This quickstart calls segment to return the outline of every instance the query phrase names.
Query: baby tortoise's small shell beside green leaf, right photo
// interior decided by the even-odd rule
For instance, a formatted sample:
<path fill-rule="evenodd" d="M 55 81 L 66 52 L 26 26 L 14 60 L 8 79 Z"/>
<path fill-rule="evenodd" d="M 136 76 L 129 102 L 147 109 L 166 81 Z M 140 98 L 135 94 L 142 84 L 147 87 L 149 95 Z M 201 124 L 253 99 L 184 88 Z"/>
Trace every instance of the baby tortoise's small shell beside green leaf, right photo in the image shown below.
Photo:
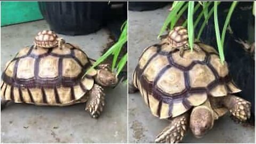
<path fill-rule="evenodd" d="M 182 26 L 174 27 L 167 36 L 167 43 L 179 47 L 188 43 L 188 31 Z"/>

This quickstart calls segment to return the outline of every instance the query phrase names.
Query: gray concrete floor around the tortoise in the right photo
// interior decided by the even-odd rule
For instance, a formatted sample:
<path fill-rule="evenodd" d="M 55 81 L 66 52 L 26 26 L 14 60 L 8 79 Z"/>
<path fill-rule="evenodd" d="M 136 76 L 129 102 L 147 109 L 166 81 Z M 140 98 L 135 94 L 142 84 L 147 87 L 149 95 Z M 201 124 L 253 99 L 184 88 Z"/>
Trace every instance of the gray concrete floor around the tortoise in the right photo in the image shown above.
<path fill-rule="evenodd" d="M 129 79 L 143 49 L 158 43 L 157 35 L 168 14 L 169 6 L 154 11 L 129 11 Z M 151 115 L 139 93 L 129 94 L 128 140 L 132 143 L 154 142 L 156 135 L 169 123 Z M 254 127 L 235 124 L 228 115 L 215 121 L 213 129 L 202 139 L 189 131 L 182 142 L 189 143 L 254 143 Z"/>

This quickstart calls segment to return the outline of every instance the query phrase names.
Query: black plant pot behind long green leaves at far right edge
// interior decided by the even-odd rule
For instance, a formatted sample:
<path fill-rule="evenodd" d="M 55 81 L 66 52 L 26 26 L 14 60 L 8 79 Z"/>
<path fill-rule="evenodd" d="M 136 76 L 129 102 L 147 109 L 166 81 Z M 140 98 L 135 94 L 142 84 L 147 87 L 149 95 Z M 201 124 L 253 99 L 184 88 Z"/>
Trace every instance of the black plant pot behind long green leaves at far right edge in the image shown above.
<path fill-rule="evenodd" d="M 230 5 L 231 3 L 229 2 L 222 2 L 218 7 L 218 20 L 221 32 Z M 255 60 L 250 53 L 243 49 L 241 44 L 235 41 L 235 39 L 241 38 L 244 41 L 251 40 L 251 42 L 254 42 L 255 17 L 252 15 L 252 9 L 249 9 L 252 5 L 253 2 L 239 2 L 236 6 L 230 19 L 230 27 L 233 34 L 228 32 L 226 34 L 224 53 L 225 60 L 229 66 L 229 73 L 236 85 L 242 90 L 238 95 L 252 103 L 251 110 L 255 114 Z M 195 18 L 196 15 L 194 16 Z M 199 31 L 201 24 L 202 21 L 199 22 L 199 27 L 196 28 L 195 33 Z M 217 49 L 213 15 L 201 35 L 201 41 Z"/>

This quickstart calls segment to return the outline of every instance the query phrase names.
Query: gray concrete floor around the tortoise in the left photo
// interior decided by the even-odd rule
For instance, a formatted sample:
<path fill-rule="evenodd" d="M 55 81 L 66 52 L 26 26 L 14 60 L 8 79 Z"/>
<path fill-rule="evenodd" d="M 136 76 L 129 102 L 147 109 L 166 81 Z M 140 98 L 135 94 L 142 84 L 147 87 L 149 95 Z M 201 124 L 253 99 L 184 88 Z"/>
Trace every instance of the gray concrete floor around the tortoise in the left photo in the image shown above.
<path fill-rule="evenodd" d="M 1 70 L 34 36 L 49 29 L 44 20 L 2 27 Z M 65 36 L 94 59 L 107 45 L 108 31 L 101 29 L 86 36 Z M 108 143 L 127 140 L 127 86 L 119 84 L 106 91 L 106 106 L 99 119 L 90 117 L 80 103 L 68 107 L 14 104 L 1 111 L 1 142 L 4 143 Z"/>

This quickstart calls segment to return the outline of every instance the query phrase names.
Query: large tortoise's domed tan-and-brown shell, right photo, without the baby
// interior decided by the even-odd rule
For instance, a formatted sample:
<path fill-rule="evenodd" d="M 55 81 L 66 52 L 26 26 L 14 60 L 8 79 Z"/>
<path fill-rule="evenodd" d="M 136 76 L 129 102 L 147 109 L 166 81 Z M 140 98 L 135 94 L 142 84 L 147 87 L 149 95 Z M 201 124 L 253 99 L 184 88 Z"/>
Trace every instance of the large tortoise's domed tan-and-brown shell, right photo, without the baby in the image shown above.
<path fill-rule="evenodd" d="M 151 113 L 176 117 L 208 97 L 223 97 L 241 90 L 228 75 L 213 47 L 198 43 L 202 51 L 187 50 L 183 57 L 166 43 L 147 47 L 133 74 L 133 83 Z"/>

